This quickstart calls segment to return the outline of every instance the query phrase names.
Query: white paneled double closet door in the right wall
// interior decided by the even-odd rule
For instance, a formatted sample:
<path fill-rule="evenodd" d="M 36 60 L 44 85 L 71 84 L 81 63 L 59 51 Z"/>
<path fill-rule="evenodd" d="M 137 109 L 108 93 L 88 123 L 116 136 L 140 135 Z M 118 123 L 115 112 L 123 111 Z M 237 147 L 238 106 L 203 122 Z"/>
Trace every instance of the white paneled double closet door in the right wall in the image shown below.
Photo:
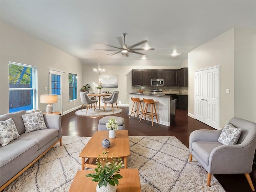
<path fill-rule="evenodd" d="M 195 72 L 195 118 L 219 129 L 219 67 Z"/>

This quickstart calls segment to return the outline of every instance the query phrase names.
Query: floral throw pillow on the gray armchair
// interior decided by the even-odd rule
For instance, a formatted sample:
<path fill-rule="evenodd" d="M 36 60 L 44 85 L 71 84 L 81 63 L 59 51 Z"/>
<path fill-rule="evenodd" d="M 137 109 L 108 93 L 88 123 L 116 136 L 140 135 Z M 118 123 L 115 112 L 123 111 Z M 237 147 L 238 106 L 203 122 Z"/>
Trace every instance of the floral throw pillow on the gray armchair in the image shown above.
<path fill-rule="evenodd" d="M 235 145 L 240 137 L 242 129 L 235 128 L 232 124 L 228 123 L 222 129 L 218 142 L 223 145 Z"/>

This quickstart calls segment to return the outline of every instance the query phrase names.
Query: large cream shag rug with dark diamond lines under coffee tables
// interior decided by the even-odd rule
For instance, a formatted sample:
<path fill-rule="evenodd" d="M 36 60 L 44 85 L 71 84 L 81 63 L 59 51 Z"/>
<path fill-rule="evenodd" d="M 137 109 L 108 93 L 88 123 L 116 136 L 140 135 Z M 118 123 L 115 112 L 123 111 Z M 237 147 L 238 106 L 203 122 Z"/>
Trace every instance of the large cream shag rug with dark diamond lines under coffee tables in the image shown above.
<path fill-rule="evenodd" d="M 3 192 L 68 192 L 89 140 L 63 136 L 62 146 L 56 144 Z M 174 136 L 129 136 L 129 141 L 128 168 L 139 169 L 142 192 L 225 192 L 213 175 L 206 185 L 206 170 L 194 158 L 188 162 L 188 148 Z"/>

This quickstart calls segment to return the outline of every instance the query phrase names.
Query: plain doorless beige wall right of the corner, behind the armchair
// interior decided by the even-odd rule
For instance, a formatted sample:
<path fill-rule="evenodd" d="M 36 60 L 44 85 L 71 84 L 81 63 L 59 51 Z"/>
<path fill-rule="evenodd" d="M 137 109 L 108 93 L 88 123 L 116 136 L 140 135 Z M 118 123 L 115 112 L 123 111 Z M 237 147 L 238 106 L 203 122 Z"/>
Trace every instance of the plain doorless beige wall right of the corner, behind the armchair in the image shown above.
<path fill-rule="evenodd" d="M 235 28 L 234 115 L 256 122 L 256 30 Z"/>

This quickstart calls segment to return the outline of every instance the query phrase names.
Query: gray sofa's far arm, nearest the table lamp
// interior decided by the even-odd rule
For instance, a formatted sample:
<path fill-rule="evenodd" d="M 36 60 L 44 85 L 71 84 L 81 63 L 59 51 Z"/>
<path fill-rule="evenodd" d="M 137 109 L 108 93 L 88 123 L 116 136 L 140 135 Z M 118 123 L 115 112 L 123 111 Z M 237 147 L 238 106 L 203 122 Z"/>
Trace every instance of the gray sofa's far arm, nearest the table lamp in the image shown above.
<path fill-rule="evenodd" d="M 44 121 L 46 124 L 46 127 L 49 129 L 58 129 L 59 135 L 58 139 L 62 136 L 62 130 L 61 130 L 61 115 L 56 114 L 44 114 Z"/>

